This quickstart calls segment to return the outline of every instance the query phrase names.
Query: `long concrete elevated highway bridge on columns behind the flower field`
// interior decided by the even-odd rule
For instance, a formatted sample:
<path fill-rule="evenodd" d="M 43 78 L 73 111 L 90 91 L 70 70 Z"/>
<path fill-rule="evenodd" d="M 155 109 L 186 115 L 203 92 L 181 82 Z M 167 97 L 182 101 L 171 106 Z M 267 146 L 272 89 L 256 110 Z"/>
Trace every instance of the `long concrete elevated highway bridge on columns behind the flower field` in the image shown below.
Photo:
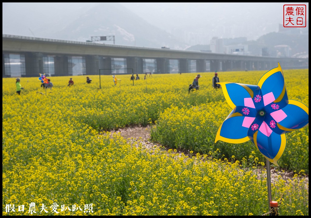
<path fill-rule="evenodd" d="M 309 69 L 309 58 L 122 46 L 2 34 L 2 77 Z M 123 70 L 122 70 L 123 69 Z"/>

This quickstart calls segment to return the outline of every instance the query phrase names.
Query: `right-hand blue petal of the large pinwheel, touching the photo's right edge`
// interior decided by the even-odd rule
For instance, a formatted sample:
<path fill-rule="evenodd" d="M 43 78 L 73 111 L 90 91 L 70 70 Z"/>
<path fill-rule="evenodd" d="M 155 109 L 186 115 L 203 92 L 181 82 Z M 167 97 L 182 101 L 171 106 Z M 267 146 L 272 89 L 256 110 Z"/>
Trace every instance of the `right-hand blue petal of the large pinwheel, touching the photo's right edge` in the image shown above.
<path fill-rule="evenodd" d="M 277 127 L 286 132 L 309 125 L 309 108 L 300 101 L 289 100 L 287 106 L 270 114 L 275 118 Z"/>

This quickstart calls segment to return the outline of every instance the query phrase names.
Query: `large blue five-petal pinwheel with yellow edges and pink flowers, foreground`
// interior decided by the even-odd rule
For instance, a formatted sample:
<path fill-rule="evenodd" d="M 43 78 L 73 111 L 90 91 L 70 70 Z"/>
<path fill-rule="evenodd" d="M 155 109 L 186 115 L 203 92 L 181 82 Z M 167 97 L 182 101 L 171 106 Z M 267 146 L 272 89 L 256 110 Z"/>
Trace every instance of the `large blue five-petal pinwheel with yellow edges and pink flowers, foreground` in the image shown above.
<path fill-rule="evenodd" d="M 243 143 L 251 140 L 262 155 L 278 166 L 285 150 L 285 133 L 309 125 L 309 108 L 289 100 L 280 64 L 260 78 L 257 86 L 219 82 L 233 109 L 220 125 L 218 140 Z"/>

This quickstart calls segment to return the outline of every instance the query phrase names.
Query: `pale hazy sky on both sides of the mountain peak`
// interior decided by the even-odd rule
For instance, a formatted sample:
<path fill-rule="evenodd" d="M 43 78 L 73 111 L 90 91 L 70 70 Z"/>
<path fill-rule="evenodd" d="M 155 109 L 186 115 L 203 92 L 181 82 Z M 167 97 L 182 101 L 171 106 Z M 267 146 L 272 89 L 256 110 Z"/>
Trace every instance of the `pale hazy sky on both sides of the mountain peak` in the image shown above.
<path fill-rule="evenodd" d="M 79 10 L 87 10 L 98 2 L 2 2 L 2 33 L 36 35 L 35 30 L 60 17 L 70 19 Z M 174 35 L 184 31 L 220 38 L 247 37 L 256 40 L 269 32 L 277 32 L 283 24 L 283 5 L 305 4 L 309 27 L 308 2 L 118 2 L 148 23 Z M 17 9 L 18 8 L 18 9 Z M 40 8 L 40 9 L 39 9 Z M 44 9 L 42 9 L 44 8 Z M 42 19 L 44 17 L 44 19 Z M 61 20 L 58 20 L 61 22 Z M 9 25 L 7 25 L 9 24 Z M 23 27 L 21 27 L 22 25 Z M 37 35 L 36 35 L 37 36 Z M 40 36 L 39 36 L 40 37 Z"/>

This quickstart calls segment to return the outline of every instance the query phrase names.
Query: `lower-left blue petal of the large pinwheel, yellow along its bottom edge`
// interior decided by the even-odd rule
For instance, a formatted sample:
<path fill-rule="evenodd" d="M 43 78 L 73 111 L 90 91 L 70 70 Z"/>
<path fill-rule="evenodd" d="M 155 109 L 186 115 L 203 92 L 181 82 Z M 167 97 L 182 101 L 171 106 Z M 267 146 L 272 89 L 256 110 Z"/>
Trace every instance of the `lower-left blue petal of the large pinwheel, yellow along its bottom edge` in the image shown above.
<path fill-rule="evenodd" d="M 254 119 L 254 117 L 245 117 L 241 113 L 235 113 L 233 110 L 220 125 L 215 143 L 218 140 L 234 144 L 248 141 L 247 132 Z"/>

